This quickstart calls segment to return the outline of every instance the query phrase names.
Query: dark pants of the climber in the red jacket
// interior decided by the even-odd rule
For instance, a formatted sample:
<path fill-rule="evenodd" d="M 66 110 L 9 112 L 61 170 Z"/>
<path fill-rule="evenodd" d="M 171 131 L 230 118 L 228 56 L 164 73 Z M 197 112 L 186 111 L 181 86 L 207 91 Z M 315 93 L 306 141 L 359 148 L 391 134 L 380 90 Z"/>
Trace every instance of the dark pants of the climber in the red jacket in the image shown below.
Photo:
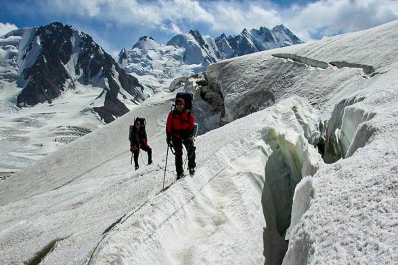
<path fill-rule="evenodd" d="M 176 155 L 176 171 L 177 175 L 184 173 L 184 168 L 182 168 L 182 144 L 184 144 L 188 153 L 188 167 L 196 167 L 195 163 L 195 146 L 193 145 L 193 139 L 181 139 L 176 137 L 171 137 L 171 142 L 174 147 L 174 155 Z"/>

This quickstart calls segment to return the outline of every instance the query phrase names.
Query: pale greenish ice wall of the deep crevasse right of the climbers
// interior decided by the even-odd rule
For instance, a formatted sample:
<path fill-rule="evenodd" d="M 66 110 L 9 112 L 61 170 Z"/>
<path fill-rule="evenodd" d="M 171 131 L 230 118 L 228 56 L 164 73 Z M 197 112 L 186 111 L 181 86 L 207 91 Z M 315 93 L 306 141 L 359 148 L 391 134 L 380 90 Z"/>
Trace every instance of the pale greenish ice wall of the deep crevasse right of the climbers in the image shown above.
<path fill-rule="evenodd" d="M 285 104 L 285 101 L 281 104 Z M 322 163 L 314 148 L 320 135 L 316 111 L 294 105 L 290 106 L 290 115 L 287 117 L 287 112 L 278 111 L 277 107 L 273 116 L 286 124 L 295 123 L 292 130 L 284 130 L 285 125 L 282 124 L 273 124 L 263 130 L 263 138 L 272 150 L 265 164 L 262 193 L 263 213 L 267 223 L 264 229 L 266 265 L 281 264 L 287 251 L 290 228 L 300 219 L 299 210 L 292 212 L 298 207 L 297 203 L 293 203 L 297 196 L 296 186 L 303 177 L 314 175 Z"/>

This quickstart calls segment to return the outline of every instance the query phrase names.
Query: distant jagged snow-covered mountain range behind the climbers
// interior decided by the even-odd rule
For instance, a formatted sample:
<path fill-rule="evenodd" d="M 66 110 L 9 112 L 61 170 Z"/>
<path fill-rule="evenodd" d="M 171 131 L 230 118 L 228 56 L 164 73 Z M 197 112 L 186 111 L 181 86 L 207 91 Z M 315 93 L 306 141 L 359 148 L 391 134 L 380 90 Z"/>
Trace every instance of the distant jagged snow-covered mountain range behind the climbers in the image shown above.
<path fill-rule="evenodd" d="M 151 86 L 149 78 L 171 79 L 204 71 L 210 63 L 247 55 L 253 52 L 280 48 L 302 43 L 283 25 L 272 30 L 244 29 L 239 35 L 226 37 L 203 37 L 198 30 L 178 34 L 166 45 L 152 37 L 141 37 L 131 50 L 120 52 L 118 63 L 126 72 Z"/>

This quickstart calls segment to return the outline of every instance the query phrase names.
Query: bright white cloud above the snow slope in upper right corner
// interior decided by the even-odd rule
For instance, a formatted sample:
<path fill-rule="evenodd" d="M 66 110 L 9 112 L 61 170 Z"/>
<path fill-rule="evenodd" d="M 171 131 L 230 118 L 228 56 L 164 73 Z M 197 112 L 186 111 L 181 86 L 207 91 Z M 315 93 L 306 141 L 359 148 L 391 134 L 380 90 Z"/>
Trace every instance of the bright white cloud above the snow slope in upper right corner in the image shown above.
<path fill-rule="evenodd" d="M 303 40 L 372 28 L 398 19 L 395 0 L 321 0 L 292 8 L 284 21 Z M 301 33 L 299 33 L 301 32 Z"/>

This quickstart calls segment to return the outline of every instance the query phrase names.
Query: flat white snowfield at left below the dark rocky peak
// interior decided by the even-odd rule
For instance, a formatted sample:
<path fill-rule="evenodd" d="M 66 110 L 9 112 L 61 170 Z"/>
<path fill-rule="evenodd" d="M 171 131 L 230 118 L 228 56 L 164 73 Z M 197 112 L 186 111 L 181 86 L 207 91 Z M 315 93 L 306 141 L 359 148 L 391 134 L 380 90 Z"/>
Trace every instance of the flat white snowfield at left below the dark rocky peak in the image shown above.
<path fill-rule="evenodd" d="M 8 88 L 8 87 L 6 87 Z M 39 104 L 34 108 L 18 109 L 0 115 L 4 130 L 12 131 L 4 137 L 7 150 L 0 157 L 3 169 L 15 165 L 21 168 L 57 150 L 60 146 L 103 126 L 97 114 L 87 109 L 98 106 L 104 99 L 96 99 L 102 88 L 77 84 L 77 90 L 68 90 L 52 104 Z M 102 102 L 99 102 L 102 101 Z M 8 106 L 5 103 L 3 106 Z M 23 137 L 25 141 L 17 139 Z M 19 168 L 20 170 L 20 168 Z"/>

